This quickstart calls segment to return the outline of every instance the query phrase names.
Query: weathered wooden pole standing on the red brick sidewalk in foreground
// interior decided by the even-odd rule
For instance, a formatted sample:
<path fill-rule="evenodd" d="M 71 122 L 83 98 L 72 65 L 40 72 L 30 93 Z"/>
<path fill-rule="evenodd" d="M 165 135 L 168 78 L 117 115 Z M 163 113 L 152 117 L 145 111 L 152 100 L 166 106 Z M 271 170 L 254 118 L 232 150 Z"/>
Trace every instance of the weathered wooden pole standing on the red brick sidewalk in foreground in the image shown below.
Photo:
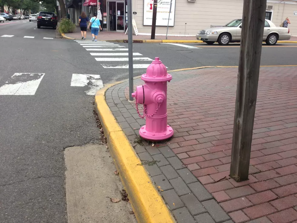
<path fill-rule="evenodd" d="M 266 0 L 244 0 L 230 177 L 248 180 Z"/>

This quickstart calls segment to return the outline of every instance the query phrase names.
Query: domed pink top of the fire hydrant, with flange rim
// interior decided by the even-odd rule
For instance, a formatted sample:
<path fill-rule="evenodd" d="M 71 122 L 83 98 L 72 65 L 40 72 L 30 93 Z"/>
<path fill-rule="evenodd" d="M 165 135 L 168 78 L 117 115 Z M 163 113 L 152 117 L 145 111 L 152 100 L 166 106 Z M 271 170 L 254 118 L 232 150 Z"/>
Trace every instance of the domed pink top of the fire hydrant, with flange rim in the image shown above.
<path fill-rule="evenodd" d="M 148 82 L 163 82 L 170 81 L 172 76 L 167 73 L 167 68 L 160 58 L 155 57 L 155 60 L 146 69 L 146 73 L 141 76 L 141 79 Z"/>

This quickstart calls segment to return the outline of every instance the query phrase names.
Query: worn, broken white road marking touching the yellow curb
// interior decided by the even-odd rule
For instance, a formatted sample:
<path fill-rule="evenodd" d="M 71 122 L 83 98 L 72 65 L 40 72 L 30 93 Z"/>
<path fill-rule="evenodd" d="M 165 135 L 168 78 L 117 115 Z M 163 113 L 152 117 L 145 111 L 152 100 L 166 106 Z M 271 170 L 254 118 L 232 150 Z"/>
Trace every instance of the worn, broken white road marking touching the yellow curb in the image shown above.
<path fill-rule="evenodd" d="M 85 91 L 87 95 L 95 93 L 103 87 L 100 75 L 97 74 L 72 74 L 70 86 L 83 87 L 88 86 L 89 90 Z"/>

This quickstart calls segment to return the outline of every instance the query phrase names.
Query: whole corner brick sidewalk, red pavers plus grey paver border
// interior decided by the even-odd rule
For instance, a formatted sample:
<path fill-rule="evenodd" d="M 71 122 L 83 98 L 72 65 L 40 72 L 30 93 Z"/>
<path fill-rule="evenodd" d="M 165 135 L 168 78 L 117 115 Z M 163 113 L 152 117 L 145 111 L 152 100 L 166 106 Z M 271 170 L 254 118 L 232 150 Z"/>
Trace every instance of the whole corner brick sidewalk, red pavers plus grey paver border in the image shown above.
<path fill-rule="evenodd" d="M 237 68 L 172 76 L 168 123 L 175 130 L 173 138 L 154 147 L 143 141 L 135 150 L 141 160 L 159 161 L 145 167 L 177 221 L 296 223 L 296 68 L 260 69 L 250 175 L 241 183 L 228 176 Z M 125 82 L 110 88 L 106 101 L 133 141 L 145 121 L 127 101 L 127 86 Z"/>

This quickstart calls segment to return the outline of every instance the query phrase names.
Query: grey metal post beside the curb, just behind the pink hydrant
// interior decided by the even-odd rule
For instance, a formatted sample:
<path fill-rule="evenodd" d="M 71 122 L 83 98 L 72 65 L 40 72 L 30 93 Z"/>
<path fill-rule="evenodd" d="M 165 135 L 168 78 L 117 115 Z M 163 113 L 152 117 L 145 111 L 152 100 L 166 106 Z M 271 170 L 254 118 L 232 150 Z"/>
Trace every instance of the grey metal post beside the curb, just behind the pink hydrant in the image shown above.
<path fill-rule="evenodd" d="M 129 100 L 133 101 L 133 37 L 132 37 L 132 0 L 127 0 L 128 6 L 128 58 L 129 58 Z"/>

